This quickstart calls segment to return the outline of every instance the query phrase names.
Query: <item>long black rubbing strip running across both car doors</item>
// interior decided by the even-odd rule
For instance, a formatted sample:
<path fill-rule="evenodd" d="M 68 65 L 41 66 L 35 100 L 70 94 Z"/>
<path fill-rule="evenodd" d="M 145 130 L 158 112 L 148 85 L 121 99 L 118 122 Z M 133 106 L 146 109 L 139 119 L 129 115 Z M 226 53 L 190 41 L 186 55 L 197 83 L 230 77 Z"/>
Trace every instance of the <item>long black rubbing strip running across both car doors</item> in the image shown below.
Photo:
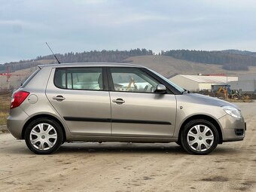
<path fill-rule="evenodd" d="M 158 120 L 126 120 L 126 119 L 104 119 L 104 118 L 87 118 L 87 117 L 64 117 L 65 120 L 70 121 L 87 121 L 87 122 L 112 122 L 112 123 L 141 123 L 141 124 L 157 124 L 157 125 L 171 125 L 168 121 Z"/>

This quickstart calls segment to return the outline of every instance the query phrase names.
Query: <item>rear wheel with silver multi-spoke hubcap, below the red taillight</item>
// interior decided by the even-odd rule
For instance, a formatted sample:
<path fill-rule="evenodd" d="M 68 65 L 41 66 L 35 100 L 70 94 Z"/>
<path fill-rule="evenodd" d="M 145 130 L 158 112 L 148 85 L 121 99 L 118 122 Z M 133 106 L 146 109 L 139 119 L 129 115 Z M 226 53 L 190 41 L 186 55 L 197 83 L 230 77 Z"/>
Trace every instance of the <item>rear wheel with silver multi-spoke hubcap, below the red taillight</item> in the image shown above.
<path fill-rule="evenodd" d="M 27 126 L 25 141 L 27 147 L 35 154 L 51 154 L 62 145 L 62 128 L 55 120 L 38 118 Z"/>

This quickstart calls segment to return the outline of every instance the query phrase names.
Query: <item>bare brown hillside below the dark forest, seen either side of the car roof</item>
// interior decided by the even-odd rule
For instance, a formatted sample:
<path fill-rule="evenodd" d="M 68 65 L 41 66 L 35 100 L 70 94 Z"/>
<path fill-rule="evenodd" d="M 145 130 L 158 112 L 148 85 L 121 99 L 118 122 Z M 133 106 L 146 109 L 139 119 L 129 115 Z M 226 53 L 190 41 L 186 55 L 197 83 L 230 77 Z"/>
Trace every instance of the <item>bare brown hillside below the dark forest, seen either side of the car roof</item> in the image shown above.
<path fill-rule="evenodd" d="M 38 60 L 40 64 L 47 64 L 53 60 Z M 160 73 L 166 78 L 174 75 L 198 75 L 199 73 L 207 74 L 228 74 L 236 76 L 238 74 L 256 74 L 256 66 L 248 66 L 248 71 L 227 71 L 222 69 L 221 65 L 203 64 L 199 62 L 190 62 L 183 59 L 175 59 L 172 56 L 148 55 L 148 56 L 131 56 L 124 59 L 122 62 L 130 62 L 141 66 L 146 66 Z M 22 76 L 11 76 L 11 87 L 17 88 L 20 86 L 27 76 L 35 71 L 35 67 L 29 69 L 18 70 L 13 74 L 23 74 Z M 0 76 L 0 90 L 6 88 L 6 77 Z"/>

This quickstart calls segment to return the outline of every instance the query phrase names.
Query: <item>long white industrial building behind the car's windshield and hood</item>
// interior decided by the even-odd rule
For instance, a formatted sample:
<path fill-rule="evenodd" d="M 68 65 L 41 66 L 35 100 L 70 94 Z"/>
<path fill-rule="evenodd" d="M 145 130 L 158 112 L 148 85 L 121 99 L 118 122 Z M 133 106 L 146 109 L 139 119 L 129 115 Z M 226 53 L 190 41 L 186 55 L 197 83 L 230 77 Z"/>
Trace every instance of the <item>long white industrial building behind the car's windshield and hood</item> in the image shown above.
<path fill-rule="evenodd" d="M 214 85 L 227 85 L 230 81 L 238 81 L 237 77 L 204 76 L 204 75 L 176 75 L 169 79 L 190 91 L 212 90 Z"/>

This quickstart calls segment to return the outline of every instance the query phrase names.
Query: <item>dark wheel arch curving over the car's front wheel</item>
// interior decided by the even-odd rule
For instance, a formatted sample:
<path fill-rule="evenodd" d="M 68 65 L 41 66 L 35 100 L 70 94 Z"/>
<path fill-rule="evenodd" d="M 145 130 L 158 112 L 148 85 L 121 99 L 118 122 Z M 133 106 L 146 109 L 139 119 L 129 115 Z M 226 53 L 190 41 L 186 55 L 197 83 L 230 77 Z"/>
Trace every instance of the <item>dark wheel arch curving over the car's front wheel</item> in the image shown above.
<path fill-rule="evenodd" d="M 197 114 L 191 117 L 188 117 L 186 120 L 184 120 L 184 122 L 181 124 L 181 127 L 179 129 L 178 132 L 178 142 L 180 142 L 180 138 L 181 138 L 181 131 L 184 129 L 184 126 L 190 121 L 190 120 L 196 120 L 196 119 L 204 119 L 204 120 L 208 120 L 209 122 L 211 122 L 216 129 L 218 130 L 218 136 L 219 136 L 219 144 L 222 144 L 223 142 L 223 137 L 222 137 L 222 131 L 221 131 L 221 126 L 219 125 L 218 121 L 215 120 L 213 117 L 210 117 L 206 114 Z"/>

